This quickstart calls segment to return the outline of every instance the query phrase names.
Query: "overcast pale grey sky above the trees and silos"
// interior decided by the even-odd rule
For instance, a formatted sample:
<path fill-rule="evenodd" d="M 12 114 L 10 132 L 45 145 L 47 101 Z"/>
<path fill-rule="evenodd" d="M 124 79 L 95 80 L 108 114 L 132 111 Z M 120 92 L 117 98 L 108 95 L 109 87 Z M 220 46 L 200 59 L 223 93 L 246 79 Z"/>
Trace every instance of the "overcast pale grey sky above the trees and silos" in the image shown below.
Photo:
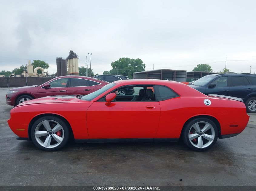
<path fill-rule="evenodd" d="M 256 72 L 256 1 L 0 1 L 0 71 L 28 60 L 49 63 L 72 49 L 102 74 L 121 57 L 146 70 Z M 243 60 L 243 61 L 241 61 Z"/>

